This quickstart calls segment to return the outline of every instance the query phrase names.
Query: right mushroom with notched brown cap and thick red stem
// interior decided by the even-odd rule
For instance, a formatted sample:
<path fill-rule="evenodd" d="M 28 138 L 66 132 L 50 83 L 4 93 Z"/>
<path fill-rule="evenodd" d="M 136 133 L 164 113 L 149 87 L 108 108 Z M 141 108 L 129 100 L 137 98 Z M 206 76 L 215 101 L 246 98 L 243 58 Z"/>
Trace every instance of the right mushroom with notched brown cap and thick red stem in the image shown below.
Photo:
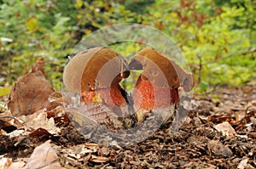
<path fill-rule="evenodd" d="M 135 54 L 129 68 L 143 70 L 132 94 L 138 121 L 143 121 L 151 110 L 173 110 L 179 102 L 178 87 L 185 91 L 193 87 L 191 73 L 153 48 L 144 48 Z"/>

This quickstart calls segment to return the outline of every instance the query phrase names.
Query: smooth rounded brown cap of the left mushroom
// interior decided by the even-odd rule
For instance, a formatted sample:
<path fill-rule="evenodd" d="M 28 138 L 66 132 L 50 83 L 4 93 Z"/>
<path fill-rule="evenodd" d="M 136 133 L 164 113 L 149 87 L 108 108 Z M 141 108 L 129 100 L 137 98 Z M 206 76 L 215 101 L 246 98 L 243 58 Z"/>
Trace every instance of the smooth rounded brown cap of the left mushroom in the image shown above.
<path fill-rule="evenodd" d="M 64 72 L 63 82 L 69 90 L 84 92 L 110 87 L 130 75 L 125 58 L 111 48 L 90 48 L 76 54 Z"/>

